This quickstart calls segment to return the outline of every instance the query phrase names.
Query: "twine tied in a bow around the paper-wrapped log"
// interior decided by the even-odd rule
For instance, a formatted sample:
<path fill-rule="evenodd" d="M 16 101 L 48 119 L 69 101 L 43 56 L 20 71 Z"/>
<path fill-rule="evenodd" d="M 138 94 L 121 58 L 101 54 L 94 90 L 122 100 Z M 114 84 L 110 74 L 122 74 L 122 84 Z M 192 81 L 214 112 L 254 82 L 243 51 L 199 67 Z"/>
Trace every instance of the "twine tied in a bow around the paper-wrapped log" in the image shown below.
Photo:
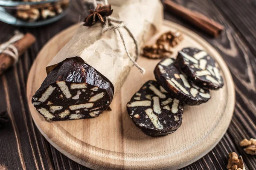
<path fill-rule="evenodd" d="M 108 5 L 108 0 L 104 0 L 105 1 L 105 5 Z M 102 2 L 101 2 L 102 3 Z M 93 4 L 95 5 L 95 8 L 97 6 L 97 2 L 96 0 L 93 0 Z M 117 25 L 114 25 L 113 23 L 118 23 Z M 125 42 L 125 39 L 123 37 L 123 34 L 122 32 L 120 31 L 120 28 L 124 28 L 129 36 L 132 38 L 132 40 L 134 41 L 134 45 L 135 45 L 135 59 L 137 59 L 139 57 L 139 46 L 138 46 L 138 42 L 136 40 L 136 38 L 134 37 L 134 35 L 131 33 L 130 29 L 127 28 L 125 26 L 125 23 L 123 21 L 120 21 L 120 20 L 117 20 L 116 18 L 113 18 L 113 17 L 106 17 L 105 18 L 105 23 L 104 23 L 104 26 L 103 26 L 103 29 L 102 29 L 102 33 L 105 33 L 107 31 L 111 31 L 111 30 L 116 30 L 118 31 L 120 37 L 121 37 L 121 40 L 122 40 L 122 43 L 124 45 L 124 48 L 125 48 L 125 52 L 128 56 L 128 58 L 131 60 L 131 62 L 138 68 L 138 70 L 142 73 L 142 74 L 145 74 L 145 69 L 142 68 L 140 65 L 138 65 L 138 63 L 133 59 L 133 57 L 131 57 L 129 51 L 128 51 L 128 48 L 127 48 L 127 45 L 126 45 L 126 42 Z"/>

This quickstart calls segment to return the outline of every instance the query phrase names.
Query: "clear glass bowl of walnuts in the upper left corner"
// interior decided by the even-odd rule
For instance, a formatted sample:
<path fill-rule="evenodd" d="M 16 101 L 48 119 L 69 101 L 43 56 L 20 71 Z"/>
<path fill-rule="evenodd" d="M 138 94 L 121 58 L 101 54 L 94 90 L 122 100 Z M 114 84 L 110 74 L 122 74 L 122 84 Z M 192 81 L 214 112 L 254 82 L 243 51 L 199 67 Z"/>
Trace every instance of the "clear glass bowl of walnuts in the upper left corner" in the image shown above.
<path fill-rule="evenodd" d="M 53 23 L 69 11 L 71 0 L 0 0 L 0 21 L 37 27 Z"/>

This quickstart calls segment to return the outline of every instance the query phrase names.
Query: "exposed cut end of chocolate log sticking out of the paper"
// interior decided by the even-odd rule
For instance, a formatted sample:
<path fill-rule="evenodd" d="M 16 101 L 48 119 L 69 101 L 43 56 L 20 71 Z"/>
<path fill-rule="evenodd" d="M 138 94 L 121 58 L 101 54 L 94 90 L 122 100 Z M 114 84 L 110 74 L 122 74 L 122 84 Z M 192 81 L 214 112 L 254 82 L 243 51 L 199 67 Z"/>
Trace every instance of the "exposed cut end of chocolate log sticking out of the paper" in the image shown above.
<path fill-rule="evenodd" d="M 65 59 L 46 77 L 32 104 L 47 120 L 99 116 L 113 98 L 112 83 L 80 57 Z"/>

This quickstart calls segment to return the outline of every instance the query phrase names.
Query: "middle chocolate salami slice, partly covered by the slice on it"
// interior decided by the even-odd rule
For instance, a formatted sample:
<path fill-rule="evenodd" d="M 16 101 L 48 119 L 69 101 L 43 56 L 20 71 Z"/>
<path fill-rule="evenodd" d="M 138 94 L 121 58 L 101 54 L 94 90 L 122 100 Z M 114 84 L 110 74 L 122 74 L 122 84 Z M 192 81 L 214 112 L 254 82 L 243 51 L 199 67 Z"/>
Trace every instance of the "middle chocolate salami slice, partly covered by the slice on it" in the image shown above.
<path fill-rule="evenodd" d="M 175 66 L 175 60 L 171 58 L 162 59 L 154 69 L 157 82 L 169 92 L 169 94 L 187 105 L 200 105 L 207 102 L 211 96 L 209 90 L 199 88 L 188 82 Z"/>

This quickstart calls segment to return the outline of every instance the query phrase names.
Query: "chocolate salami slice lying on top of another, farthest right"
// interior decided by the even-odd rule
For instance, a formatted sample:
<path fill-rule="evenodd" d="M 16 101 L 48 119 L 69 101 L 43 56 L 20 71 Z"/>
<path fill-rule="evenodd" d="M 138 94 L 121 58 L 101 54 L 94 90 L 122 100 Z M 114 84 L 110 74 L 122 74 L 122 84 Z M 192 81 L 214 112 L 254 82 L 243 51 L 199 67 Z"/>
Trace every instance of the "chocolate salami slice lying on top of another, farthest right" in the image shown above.
<path fill-rule="evenodd" d="M 201 88 L 217 90 L 224 83 L 215 60 L 197 48 L 183 48 L 177 56 L 177 66 L 189 81 Z"/>

